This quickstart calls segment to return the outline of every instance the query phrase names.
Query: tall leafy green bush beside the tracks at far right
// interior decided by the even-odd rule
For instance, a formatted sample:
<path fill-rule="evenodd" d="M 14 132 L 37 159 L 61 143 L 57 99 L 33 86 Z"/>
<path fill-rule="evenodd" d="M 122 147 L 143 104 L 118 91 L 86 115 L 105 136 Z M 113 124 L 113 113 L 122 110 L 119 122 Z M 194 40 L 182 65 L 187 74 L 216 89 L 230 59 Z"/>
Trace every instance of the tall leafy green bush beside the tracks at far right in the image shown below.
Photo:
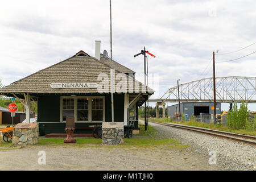
<path fill-rule="evenodd" d="M 234 107 L 231 112 L 228 113 L 229 128 L 235 130 L 245 129 L 249 113 L 250 111 L 248 110 L 247 102 L 242 101 L 239 110 L 237 108 L 237 103 L 234 103 Z"/>

